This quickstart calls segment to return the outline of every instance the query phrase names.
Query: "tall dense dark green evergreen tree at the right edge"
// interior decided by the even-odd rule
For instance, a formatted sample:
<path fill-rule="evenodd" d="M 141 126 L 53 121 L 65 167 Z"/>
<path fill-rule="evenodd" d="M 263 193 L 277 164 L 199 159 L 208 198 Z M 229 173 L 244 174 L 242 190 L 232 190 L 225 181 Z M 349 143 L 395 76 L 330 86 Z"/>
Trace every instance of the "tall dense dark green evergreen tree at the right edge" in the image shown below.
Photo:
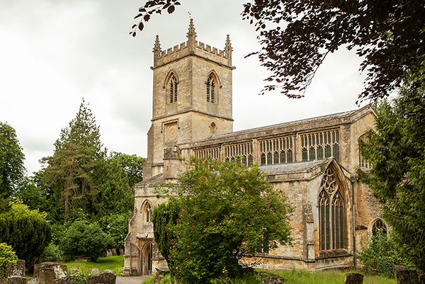
<path fill-rule="evenodd" d="M 361 142 L 373 169 L 360 176 L 382 201 L 399 246 L 425 271 L 425 86 L 415 81 L 392 103 L 378 104 L 376 130 Z"/>

